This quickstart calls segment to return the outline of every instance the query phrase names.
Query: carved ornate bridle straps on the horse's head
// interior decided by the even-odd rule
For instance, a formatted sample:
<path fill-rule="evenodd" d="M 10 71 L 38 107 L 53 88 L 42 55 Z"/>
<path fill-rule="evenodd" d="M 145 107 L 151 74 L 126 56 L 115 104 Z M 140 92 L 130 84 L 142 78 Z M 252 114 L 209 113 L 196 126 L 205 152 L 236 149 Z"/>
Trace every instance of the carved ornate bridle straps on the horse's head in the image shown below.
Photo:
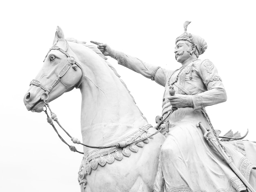
<path fill-rule="evenodd" d="M 66 45 L 67 45 L 67 49 L 68 49 L 68 43 L 67 43 L 67 40 L 66 40 Z M 61 51 L 63 54 L 65 54 L 67 56 L 67 63 L 66 65 L 61 69 L 61 71 L 58 73 L 58 76 L 56 77 L 56 79 L 54 80 L 54 82 L 52 83 L 52 86 L 49 87 L 49 88 L 46 88 L 44 85 L 42 85 L 42 83 L 40 83 L 39 80 L 35 80 L 33 79 L 29 85 L 36 85 L 38 87 L 41 87 L 43 90 L 45 90 L 45 92 L 43 92 L 41 94 L 41 100 L 47 100 L 49 98 L 49 93 L 52 91 L 53 87 L 55 85 L 57 85 L 57 83 L 61 80 L 61 77 L 63 77 L 66 72 L 68 71 L 68 69 L 70 69 L 70 67 L 72 66 L 72 68 L 74 70 L 77 70 L 77 66 L 80 67 L 80 69 L 82 70 L 82 73 L 83 73 L 83 69 L 81 67 L 81 65 L 79 65 L 79 63 L 76 62 L 75 58 L 70 56 L 68 53 L 67 53 L 67 49 L 66 51 L 64 51 L 63 49 L 61 49 L 60 47 L 58 46 L 53 46 L 52 48 L 49 49 L 47 55 L 45 56 L 45 59 L 46 57 L 48 56 L 49 52 L 52 51 L 52 50 L 59 50 Z M 45 60 L 44 60 L 45 62 Z M 79 87 L 82 83 L 82 78 L 79 80 L 79 83 L 76 85 L 76 88 Z M 43 96 L 45 95 L 45 96 Z"/>

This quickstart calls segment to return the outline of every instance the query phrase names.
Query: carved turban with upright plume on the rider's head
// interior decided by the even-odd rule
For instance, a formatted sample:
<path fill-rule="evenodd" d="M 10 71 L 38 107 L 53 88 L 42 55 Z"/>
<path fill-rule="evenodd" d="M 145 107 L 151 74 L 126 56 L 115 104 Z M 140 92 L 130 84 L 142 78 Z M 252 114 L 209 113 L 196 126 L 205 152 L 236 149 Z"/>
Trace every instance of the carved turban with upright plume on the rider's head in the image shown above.
<path fill-rule="evenodd" d="M 180 36 L 176 38 L 176 44 L 180 40 L 185 40 L 188 42 L 191 42 L 196 49 L 198 50 L 198 54 L 201 55 L 204 53 L 204 51 L 207 49 L 207 43 L 203 38 L 197 35 L 193 35 L 191 33 L 186 32 L 186 28 L 188 27 L 190 21 L 184 22 L 184 33 L 182 33 Z"/>

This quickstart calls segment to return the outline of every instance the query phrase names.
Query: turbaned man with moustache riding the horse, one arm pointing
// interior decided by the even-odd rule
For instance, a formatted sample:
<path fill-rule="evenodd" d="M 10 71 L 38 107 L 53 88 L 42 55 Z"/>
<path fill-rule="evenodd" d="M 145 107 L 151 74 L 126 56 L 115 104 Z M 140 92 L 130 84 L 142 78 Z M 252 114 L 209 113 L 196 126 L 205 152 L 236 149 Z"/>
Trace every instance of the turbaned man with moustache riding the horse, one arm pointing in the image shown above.
<path fill-rule="evenodd" d="M 197 126 L 200 121 L 215 133 L 205 107 L 225 102 L 227 95 L 216 66 L 208 59 L 198 59 L 207 49 L 207 43 L 200 36 L 186 32 L 189 23 L 185 22 L 184 33 L 176 38 L 175 58 L 182 66 L 175 71 L 150 65 L 115 51 L 107 44 L 91 42 L 97 44 L 105 56 L 115 58 L 120 65 L 165 87 L 163 118 L 172 107 L 177 108 L 165 122 L 168 126 L 161 147 L 155 192 L 161 191 L 163 186 L 167 192 L 240 192 L 246 190 L 245 185 L 209 146 Z M 170 87 L 175 90 L 173 96 L 169 94 Z M 244 156 L 243 142 L 239 142 L 219 143 L 249 181 L 252 163 Z M 256 182 L 251 185 L 256 188 Z"/>

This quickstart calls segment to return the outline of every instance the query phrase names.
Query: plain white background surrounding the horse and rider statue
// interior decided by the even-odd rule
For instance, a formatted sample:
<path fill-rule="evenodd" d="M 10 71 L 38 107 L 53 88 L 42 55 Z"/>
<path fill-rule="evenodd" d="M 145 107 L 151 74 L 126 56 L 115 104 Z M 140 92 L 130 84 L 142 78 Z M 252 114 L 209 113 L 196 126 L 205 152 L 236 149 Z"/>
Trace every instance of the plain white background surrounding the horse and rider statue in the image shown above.
<path fill-rule="evenodd" d="M 208 49 L 200 59 L 218 68 L 228 100 L 207 107 L 216 129 L 255 139 L 255 1 L 28 1 L 0 5 L 0 191 L 79 191 L 82 155 L 70 152 L 46 122 L 45 114 L 28 112 L 23 96 L 52 46 L 56 26 L 65 37 L 108 43 L 141 60 L 177 69 L 173 50 L 188 32 L 202 36 Z M 161 114 L 164 87 L 109 59 L 148 121 Z M 51 103 L 64 127 L 78 138 L 79 89 Z M 80 147 L 80 146 L 79 146 Z M 78 148 L 79 148 L 78 147 Z M 79 148 L 82 150 L 82 147 Z M 106 175 L 107 176 L 107 175 Z"/>

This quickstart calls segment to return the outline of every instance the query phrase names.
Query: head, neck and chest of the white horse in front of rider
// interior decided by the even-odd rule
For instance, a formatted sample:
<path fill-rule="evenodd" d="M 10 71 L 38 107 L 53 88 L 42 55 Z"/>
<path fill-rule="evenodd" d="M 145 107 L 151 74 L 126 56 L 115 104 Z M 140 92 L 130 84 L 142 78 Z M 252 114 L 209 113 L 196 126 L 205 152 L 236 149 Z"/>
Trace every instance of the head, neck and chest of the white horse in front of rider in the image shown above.
<path fill-rule="evenodd" d="M 150 136 L 155 129 L 119 77 L 97 47 L 65 39 L 57 27 L 43 69 L 31 81 L 24 97 L 27 110 L 42 112 L 48 102 L 63 93 L 74 87 L 81 90 L 83 141 L 75 142 L 112 146 L 83 146 L 78 177 L 81 192 L 153 191 L 164 136 Z M 146 136 L 150 137 L 134 142 Z"/>

